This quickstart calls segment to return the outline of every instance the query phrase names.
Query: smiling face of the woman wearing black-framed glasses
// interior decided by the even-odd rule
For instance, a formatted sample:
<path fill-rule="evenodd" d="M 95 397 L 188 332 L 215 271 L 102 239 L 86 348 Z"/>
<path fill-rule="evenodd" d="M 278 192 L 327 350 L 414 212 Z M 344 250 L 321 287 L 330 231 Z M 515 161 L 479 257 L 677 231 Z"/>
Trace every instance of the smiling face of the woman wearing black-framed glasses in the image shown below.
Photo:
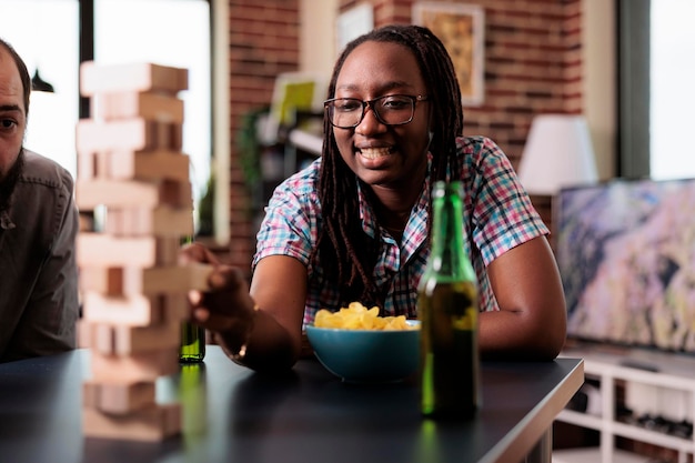
<path fill-rule="evenodd" d="M 364 104 L 389 95 L 426 94 L 422 74 L 413 71 L 417 69 L 415 57 L 404 46 L 367 41 L 345 59 L 336 78 L 335 98 L 360 100 Z M 392 105 L 365 108 L 354 128 L 333 129 L 343 160 L 369 185 L 409 184 L 409 191 L 419 191 L 422 185 L 427 162 L 430 105 L 415 105 L 413 101 L 410 107 L 411 101 L 405 101 L 406 123 L 386 124 L 380 119 L 387 111 L 402 110 L 389 100 Z M 375 111 L 383 113 L 380 117 Z"/>

